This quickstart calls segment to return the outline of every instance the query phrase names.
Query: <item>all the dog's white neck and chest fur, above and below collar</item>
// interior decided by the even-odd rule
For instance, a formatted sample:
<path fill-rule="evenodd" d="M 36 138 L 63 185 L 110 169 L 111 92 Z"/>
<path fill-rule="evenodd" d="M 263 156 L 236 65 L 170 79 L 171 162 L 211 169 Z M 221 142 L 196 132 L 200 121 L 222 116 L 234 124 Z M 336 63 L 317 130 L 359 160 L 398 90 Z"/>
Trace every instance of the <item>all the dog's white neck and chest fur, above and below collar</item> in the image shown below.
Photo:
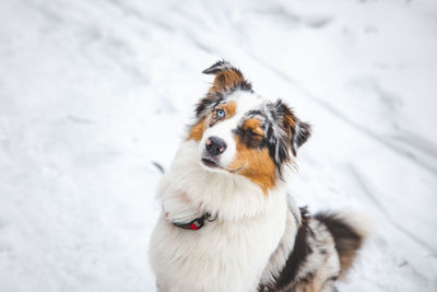
<path fill-rule="evenodd" d="M 285 192 L 279 187 L 264 196 L 244 177 L 204 171 L 190 155 L 187 142 L 164 176 L 158 198 L 170 220 L 188 221 L 205 211 L 217 219 L 188 231 L 161 215 L 150 243 L 160 291 L 256 291 L 285 230 Z"/>

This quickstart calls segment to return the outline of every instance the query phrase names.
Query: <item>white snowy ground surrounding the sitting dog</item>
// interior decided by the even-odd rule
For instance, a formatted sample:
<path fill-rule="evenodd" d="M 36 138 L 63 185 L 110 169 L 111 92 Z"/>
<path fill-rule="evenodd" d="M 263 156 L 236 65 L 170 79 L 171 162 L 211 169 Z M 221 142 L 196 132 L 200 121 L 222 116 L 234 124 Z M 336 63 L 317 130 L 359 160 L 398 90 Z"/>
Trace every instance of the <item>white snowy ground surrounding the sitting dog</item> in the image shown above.
<path fill-rule="evenodd" d="M 437 291 L 437 2 L 0 2 L 0 291 L 154 291 L 167 166 L 220 58 L 311 121 L 291 191 L 376 222 L 342 291 Z"/>

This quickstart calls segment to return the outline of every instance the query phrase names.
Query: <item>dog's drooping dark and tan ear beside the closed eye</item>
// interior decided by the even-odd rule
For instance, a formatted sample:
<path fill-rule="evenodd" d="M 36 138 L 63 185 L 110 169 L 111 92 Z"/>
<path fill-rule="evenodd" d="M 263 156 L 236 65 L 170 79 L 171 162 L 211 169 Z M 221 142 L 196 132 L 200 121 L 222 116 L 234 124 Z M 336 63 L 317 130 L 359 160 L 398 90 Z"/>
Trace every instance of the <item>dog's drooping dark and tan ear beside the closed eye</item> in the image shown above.
<path fill-rule="evenodd" d="M 297 118 L 293 110 L 281 100 L 275 103 L 274 108 L 275 116 L 282 118 L 282 127 L 287 135 L 288 145 L 293 155 L 296 156 L 297 149 L 311 136 L 311 126 Z"/>

